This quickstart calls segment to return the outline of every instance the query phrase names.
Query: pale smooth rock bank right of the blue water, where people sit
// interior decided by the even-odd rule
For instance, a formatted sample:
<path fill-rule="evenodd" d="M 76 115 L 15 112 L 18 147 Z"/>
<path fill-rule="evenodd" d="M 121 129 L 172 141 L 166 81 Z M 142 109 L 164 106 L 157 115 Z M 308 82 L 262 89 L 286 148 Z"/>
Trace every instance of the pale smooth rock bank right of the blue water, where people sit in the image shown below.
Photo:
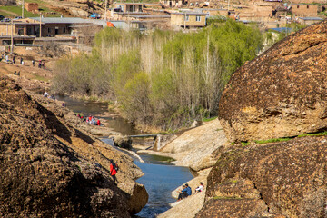
<path fill-rule="evenodd" d="M 159 149 L 154 151 L 148 146 L 136 145 L 137 154 L 154 154 L 172 157 L 175 159 L 175 165 L 189 167 L 195 176 L 192 180 L 186 182 L 193 190 L 193 195 L 180 202 L 171 203 L 172 208 L 158 215 L 159 218 L 191 218 L 198 213 L 204 203 L 205 189 L 207 186 L 207 177 L 210 173 L 216 157 L 213 153 L 227 143 L 227 139 L 223 133 L 222 126 L 218 119 L 206 122 L 199 127 L 185 131 L 179 136 L 168 136 L 168 142 Z M 194 194 L 194 190 L 199 183 L 204 184 L 204 192 Z M 171 193 L 177 199 L 178 191 L 182 186 L 176 187 Z"/>

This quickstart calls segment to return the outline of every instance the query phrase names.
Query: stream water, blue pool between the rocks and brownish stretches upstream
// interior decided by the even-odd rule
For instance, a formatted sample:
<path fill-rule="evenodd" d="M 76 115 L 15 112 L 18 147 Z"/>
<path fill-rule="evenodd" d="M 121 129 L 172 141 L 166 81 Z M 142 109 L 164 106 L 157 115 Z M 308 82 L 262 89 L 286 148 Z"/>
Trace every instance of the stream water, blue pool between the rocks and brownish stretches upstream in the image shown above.
<path fill-rule="evenodd" d="M 74 113 L 84 114 L 84 116 L 94 115 L 107 120 L 114 131 L 121 134 L 140 134 L 134 129 L 134 126 L 126 122 L 122 117 L 104 116 L 110 113 L 108 104 L 76 100 L 69 97 L 55 96 L 56 99 L 64 101 L 66 106 Z M 104 143 L 111 144 L 110 140 L 103 139 Z M 156 215 L 167 211 L 170 208 L 169 203 L 176 200 L 171 193 L 178 186 L 193 179 L 193 175 L 187 167 L 175 166 L 169 163 L 162 156 L 140 154 L 144 163 L 134 160 L 134 163 L 144 172 L 144 176 L 136 180 L 142 183 L 149 193 L 148 203 L 140 213 L 134 217 L 153 218 Z"/>

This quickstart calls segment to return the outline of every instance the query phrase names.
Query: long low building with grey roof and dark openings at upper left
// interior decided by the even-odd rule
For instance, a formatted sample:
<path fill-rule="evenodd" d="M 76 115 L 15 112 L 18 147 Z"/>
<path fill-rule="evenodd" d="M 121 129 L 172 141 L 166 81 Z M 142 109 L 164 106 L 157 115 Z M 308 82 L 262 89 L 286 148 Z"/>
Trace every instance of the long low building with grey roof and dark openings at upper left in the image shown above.
<path fill-rule="evenodd" d="M 19 19 L 13 22 L 0 22 L 0 43 L 1 45 L 11 44 L 12 37 L 14 39 L 14 45 L 34 44 L 36 38 L 40 37 L 47 37 L 48 39 L 46 41 L 53 40 L 56 42 L 75 42 L 79 38 L 88 38 L 88 41 L 90 41 L 97 31 L 100 31 L 107 25 L 104 21 L 102 21 L 104 24 L 99 22 L 94 23 L 94 20 L 74 17 L 42 17 L 41 21 L 40 17 L 33 17 Z M 40 42 L 40 40 L 36 41 Z"/>

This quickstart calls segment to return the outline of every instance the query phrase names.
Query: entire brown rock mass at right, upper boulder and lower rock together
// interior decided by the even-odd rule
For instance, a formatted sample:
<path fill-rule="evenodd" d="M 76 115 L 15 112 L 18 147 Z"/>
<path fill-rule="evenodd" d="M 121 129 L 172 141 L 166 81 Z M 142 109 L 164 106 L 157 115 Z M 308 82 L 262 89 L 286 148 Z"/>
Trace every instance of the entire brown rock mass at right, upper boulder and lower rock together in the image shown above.
<path fill-rule="evenodd" d="M 214 152 L 196 217 L 327 217 L 327 137 L 306 134 L 327 124 L 326 27 L 290 35 L 233 74 L 219 118 L 236 144 Z"/>

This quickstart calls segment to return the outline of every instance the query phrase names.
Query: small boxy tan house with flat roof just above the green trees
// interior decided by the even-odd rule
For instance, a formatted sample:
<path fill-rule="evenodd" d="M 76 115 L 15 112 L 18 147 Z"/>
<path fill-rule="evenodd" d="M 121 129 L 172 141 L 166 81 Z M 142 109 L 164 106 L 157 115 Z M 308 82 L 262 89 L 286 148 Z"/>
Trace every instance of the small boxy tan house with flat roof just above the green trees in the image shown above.
<path fill-rule="evenodd" d="M 206 13 L 179 12 L 171 14 L 171 26 L 187 29 L 204 27 L 206 25 Z"/>

